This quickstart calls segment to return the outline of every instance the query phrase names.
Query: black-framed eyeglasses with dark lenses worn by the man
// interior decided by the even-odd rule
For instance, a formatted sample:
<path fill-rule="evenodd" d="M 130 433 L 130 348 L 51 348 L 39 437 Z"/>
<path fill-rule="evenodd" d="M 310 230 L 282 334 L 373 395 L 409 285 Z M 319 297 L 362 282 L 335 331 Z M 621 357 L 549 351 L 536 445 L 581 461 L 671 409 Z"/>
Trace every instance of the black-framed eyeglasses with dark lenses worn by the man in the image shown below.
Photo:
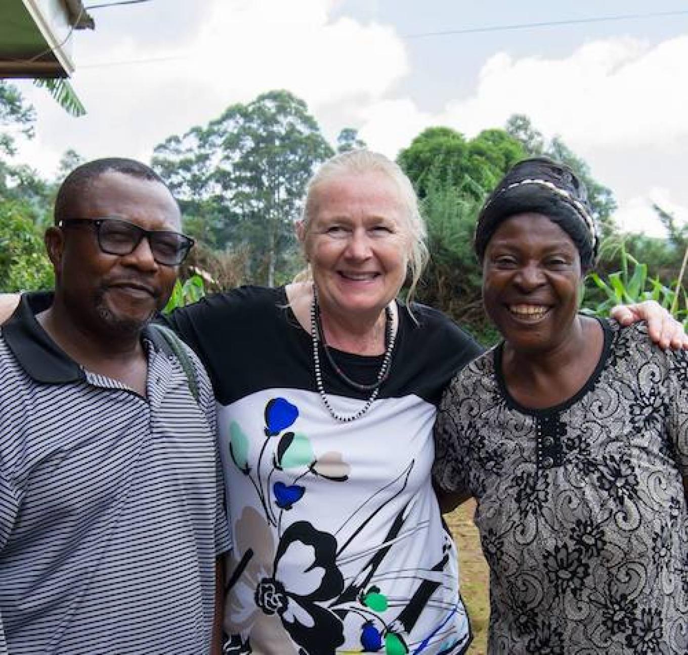
<path fill-rule="evenodd" d="M 138 225 L 117 217 L 65 218 L 60 227 L 85 225 L 96 230 L 98 247 L 107 255 L 131 255 L 141 239 L 148 239 L 153 259 L 164 266 L 178 266 L 189 255 L 193 239 L 179 232 L 144 230 Z"/>

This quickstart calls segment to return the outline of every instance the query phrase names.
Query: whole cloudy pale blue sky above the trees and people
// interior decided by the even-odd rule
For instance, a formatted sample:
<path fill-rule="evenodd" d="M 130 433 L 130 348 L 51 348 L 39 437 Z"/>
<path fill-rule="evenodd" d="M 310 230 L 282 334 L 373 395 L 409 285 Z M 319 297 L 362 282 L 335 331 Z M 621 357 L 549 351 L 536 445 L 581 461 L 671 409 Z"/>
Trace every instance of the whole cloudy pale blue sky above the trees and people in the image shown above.
<path fill-rule="evenodd" d="M 149 161 L 168 136 L 288 89 L 330 142 L 354 127 L 393 158 L 426 127 L 471 138 L 526 114 L 612 189 L 623 229 L 661 235 L 653 203 L 688 220 L 680 0 L 149 0 L 91 14 L 96 30 L 72 35 L 87 116 L 19 83 L 38 118 L 18 157 L 44 175 L 68 148 Z"/>

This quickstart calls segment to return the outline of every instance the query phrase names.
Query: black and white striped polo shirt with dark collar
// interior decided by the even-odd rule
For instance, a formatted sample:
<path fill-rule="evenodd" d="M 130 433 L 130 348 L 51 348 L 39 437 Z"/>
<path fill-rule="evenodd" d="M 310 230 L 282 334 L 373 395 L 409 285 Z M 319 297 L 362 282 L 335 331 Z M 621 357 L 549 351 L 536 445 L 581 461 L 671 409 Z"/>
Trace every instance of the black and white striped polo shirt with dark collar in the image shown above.
<path fill-rule="evenodd" d="M 196 401 L 149 339 L 147 398 L 85 371 L 51 302 L 0 330 L 0 654 L 205 654 L 230 547 L 208 378 L 190 352 Z"/>

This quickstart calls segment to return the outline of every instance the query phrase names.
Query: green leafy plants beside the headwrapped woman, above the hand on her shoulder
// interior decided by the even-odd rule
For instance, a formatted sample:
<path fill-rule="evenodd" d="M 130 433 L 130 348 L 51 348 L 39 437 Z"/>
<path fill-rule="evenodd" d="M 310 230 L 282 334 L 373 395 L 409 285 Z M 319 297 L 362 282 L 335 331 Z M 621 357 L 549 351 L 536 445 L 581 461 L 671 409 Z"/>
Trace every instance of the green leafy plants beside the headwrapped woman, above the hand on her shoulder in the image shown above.
<path fill-rule="evenodd" d="M 614 305 L 654 300 L 669 310 L 676 319 L 688 326 L 688 295 L 680 281 L 666 284 L 658 277 L 650 277 L 647 264 L 621 249 L 621 270 L 601 277 L 593 272 L 588 276 L 590 287 L 602 293 L 599 301 L 585 301 L 585 311 L 594 316 L 609 316 Z"/>

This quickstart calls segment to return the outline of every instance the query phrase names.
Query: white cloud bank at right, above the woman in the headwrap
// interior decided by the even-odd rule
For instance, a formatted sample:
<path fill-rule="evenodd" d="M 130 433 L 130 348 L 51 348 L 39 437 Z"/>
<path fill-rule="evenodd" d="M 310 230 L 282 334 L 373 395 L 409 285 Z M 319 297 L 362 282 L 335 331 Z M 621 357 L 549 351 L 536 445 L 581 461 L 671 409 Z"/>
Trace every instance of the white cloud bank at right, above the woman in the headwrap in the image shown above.
<path fill-rule="evenodd" d="M 413 126 L 411 136 L 429 125 L 475 136 L 504 125 L 511 114 L 526 114 L 546 136 L 561 135 L 610 186 L 621 226 L 657 234 L 661 227 L 652 202 L 662 197 L 658 190 L 671 194 L 678 214 L 688 207 L 688 84 L 681 83 L 686 61 L 688 36 L 654 47 L 637 39 L 607 39 L 562 58 L 499 52 L 484 63 L 468 98 L 452 100 L 434 116 L 412 100 L 383 100 L 365 110 L 361 131 L 394 156 L 409 143 L 406 125 Z M 381 116 L 390 105 L 403 109 L 385 123 Z"/>

